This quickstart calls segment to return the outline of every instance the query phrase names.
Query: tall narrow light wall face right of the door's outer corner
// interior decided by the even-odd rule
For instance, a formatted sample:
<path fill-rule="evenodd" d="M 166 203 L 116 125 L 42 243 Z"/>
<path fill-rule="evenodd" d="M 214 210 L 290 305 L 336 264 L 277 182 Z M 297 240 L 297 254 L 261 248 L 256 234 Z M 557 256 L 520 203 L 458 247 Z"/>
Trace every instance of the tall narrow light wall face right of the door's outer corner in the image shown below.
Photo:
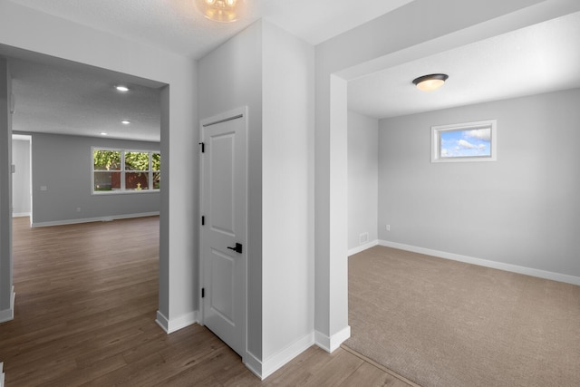
<path fill-rule="evenodd" d="M 314 343 L 314 46 L 262 25 L 262 335 L 269 372 L 280 353 L 293 356 Z"/>

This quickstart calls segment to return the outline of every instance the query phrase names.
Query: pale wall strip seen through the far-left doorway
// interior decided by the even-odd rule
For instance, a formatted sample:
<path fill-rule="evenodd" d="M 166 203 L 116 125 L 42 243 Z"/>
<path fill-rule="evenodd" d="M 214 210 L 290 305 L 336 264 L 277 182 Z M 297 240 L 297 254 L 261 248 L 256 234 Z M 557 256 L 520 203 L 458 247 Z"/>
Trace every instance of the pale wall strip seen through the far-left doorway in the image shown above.
<path fill-rule="evenodd" d="M 30 215 L 30 141 L 12 140 L 12 163 L 13 216 Z"/>

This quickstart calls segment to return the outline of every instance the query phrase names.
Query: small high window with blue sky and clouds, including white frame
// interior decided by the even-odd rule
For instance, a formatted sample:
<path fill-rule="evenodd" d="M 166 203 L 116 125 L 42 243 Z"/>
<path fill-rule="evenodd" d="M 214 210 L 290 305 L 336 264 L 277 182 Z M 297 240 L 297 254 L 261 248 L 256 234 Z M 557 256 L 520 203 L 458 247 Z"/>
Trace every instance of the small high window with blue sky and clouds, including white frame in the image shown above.
<path fill-rule="evenodd" d="M 496 120 L 431 127 L 431 162 L 495 161 Z"/>

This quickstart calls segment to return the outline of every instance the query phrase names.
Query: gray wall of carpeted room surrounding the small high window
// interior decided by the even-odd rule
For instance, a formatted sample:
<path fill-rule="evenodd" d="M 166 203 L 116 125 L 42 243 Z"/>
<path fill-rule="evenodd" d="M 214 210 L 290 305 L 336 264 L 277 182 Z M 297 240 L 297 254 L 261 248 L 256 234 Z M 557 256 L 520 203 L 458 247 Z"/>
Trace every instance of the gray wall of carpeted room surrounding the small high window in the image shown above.
<path fill-rule="evenodd" d="M 380 121 L 379 238 L 580 276 L 578 106 L 574 89 Z M 430 126 L 488 119 L 497 161 L 430 163 Z"/>

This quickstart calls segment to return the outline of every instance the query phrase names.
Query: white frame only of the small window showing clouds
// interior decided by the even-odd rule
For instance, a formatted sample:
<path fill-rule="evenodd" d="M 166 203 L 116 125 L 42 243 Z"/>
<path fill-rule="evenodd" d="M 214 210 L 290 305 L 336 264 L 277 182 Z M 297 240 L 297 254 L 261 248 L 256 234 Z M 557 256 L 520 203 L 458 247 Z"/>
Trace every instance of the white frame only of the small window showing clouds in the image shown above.
<path fill-rule="evenodd" d="M 441 157 L 441 133 L 446 131 L 470 131 L 489 128 L 491 139 L 489 140 L 489 156 L 461 156 Z M 431 162 L 473 162 L 473 161 L 496 161 L 498 160 L 498 121 L 473 121 L 439 125 L 431 127 Z"/>

